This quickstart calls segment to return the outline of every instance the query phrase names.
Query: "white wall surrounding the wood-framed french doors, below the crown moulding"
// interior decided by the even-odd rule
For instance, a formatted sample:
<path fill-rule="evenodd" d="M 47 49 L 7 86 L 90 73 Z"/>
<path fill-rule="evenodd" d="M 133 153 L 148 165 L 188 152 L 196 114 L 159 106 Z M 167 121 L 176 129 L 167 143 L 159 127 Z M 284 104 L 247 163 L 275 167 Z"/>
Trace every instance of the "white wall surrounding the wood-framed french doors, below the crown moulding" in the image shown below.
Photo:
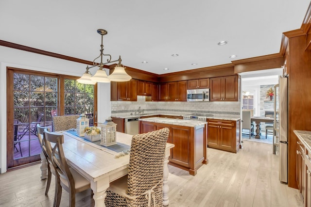
<path fill-rule="evenodd" d="M 0 173 L 6 172 L 6 67 L 81 76 L 86 65 L 0 46 Z M 93 69 L 96 70 L 96 69 Z M 95 71 L 91 73 L 95 73 Z M 110 116 L 110 84 L 98 84 L 98 121 Z"/>

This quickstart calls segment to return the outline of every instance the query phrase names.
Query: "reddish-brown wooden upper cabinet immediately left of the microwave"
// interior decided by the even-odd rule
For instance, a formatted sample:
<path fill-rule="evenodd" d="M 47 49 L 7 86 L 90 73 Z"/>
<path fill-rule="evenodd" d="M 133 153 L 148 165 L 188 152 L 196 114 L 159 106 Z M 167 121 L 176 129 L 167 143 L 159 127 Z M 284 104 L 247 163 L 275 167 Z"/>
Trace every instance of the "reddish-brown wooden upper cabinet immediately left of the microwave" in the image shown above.
<path fill-rule="evenodd" d="M 168 83 L 168 101 L 187 101 L 187 81 Z"/>

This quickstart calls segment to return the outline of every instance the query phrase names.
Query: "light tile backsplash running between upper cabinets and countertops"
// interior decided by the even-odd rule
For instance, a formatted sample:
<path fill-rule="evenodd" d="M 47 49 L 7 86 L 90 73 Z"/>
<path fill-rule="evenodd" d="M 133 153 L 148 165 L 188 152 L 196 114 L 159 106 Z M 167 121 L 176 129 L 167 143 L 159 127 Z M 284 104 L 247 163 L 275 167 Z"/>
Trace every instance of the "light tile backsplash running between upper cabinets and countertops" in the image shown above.
<path fill-rule="evenodd" d="M 240 116 L 241 102 L 185 102 L 185 101 L 145 101 L 145 96 L 137 96 L 137 101 L 111 101 L 111 114 L 144 112 L 212 113 L 214 115 Z"/>

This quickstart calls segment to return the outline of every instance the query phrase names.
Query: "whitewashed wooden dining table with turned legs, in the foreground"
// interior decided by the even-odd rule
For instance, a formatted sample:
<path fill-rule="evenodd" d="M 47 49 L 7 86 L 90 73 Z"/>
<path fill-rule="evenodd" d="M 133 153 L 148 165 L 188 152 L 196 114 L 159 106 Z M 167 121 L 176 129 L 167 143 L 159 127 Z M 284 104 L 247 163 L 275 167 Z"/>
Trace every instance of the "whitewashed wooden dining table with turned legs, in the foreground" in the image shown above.
<path fill-rule="evenodd" d="M 129 154 L 126 151 L 130 150 L 133 135 L 117 132 L 117 144 L 105 147 L 89 142 L 72 131 L 59 133 L 64 135 L 63 149 L 69 166 L 90 182 L 94 193 L 95 207 L 105 207 L 104 199 L 109 183 L 128 174 Z M 163 168 L 163 206 L 169 205 L 168 158 L 173 147 L 174 144 L 166 143 Z M 41 179 L 47 177 L 45 166 L 46 160 L 42 160 Z"/>

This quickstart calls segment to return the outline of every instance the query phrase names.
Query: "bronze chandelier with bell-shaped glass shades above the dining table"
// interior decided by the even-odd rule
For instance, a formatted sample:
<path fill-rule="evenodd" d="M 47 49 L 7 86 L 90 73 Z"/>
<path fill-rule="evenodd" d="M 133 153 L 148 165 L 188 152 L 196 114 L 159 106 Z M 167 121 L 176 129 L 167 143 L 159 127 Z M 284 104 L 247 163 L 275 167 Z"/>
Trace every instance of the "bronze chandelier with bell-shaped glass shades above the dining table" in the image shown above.
<path fill-rule="evenodd" d="M 101 44 L 101 50 L 100 50 L 101 54 L 97 58 L 94 59 L 93 66 L 90 66 L 90 67 L 88 67 L 88 65 L 86 66 L 86 72 L 77 81 L 79 83 L 94 85 L 96 82 L 110 82 L 110 81 L 122 82 L 122 81 L 131 80 L 132 77 L 129 76 L 125 72 L 125 67 L 123 64 L 121 64 L 121 61 L 122 61 L 121 56 L 119 56 L 118 60 L 111 61 L 111 55 L 104 54 L 103 36 L 107 34 L 108 32 L 103 29 L 98 29 L 97 33 L 102 35 L 102 44 Z M 109 56 L 106 63 L 103 63 L 103 56 Z M 98 58 L 101 58 L 101 62 L 99 64 L 95 63 L 95 60 L 97 60 Z M 113 73 L 110 76 L 107 76 L 106 71 L 104 69 L 104 64 L 114 63 L 117 61 L 119 63 L 115 66 Z M 99 68 L 96 71 L 95 75 L 92 76 L 92 74 L 89 72 L 89 69 L 92 67 L 96 67 L 96 66 Z"/>

